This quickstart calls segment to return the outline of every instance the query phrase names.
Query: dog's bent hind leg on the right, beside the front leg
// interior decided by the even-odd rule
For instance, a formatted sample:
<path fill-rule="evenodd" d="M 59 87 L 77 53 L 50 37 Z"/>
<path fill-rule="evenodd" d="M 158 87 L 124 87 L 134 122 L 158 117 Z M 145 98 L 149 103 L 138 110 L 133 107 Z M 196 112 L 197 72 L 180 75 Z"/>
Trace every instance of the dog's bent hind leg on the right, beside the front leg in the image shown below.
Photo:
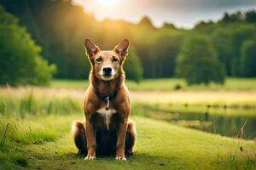
<path fill-rule="evenodd" d="M 127 133 L 125 137 L 125 156 L 127 157 L 133 155 L 133 146 L 135 144 L 136 136 L 137 136 L 137 131 L 136 131 L 135 122 L 129 120 Z"/>

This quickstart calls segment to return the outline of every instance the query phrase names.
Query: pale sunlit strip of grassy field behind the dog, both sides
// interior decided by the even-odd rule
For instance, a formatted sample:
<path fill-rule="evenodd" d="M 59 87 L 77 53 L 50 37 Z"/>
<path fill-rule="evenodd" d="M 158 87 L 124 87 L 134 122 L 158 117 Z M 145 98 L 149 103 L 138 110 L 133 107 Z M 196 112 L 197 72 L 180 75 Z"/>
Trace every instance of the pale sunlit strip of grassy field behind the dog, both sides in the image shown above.
<path fill-rule="evenodd" d="M 16 100 L 25 100 L 36 98 L 28 94 L 37 94 L 40 96 L 41 106 L 44 106 L 44 112 L 56 110 L 56 108 L 45 108 L 44 98 L 52 96 L 53 101 L 50 105 L 77 105 L 81 107 L 84 100 L 84 91 L 82 88 L 36 88 L 36 87 L 21 87 L 21 88 L 0 88 L 0 112 L 8 113 L 13 110 L 23 108 L 23 105 L 17 106 Z M 164 112 L 195 112 L 211 114 L 225 114 L 237 116 L 256 116 L 256 90 L 251 91 L 130 91 L 133 107 L 137 104 L 149 111 L 164 111 Z M 26 96 L 25 99 L 20 97 Z M 57 99 L 55 99 L 57 98 Z M 1 102 L 4 99 L 4 102 Z M 55 99 L 55 100 L 54 100 Z M 74 104 L 71 99 L 76 99 L 78 102 Z M 19 103 L 19 102 L 18 102 Z M 26 103 L 23 101 L 23 103 Z M 4 109 L 5 105 L 9 105 L 8 111 Z M 34 108 L 35 106 L 33 106 Z M 2 108 L 2 109 L 1 109 Z M 34 109 L 31 110 L 34 110 Z M 142 107 L 140 107 L 142 108 Z M 61 108 L 60 108 L 61 110 Z M 19 110 L 18 110 L 19 111 Z M 21 111 L 23 113 L 24 111 Z M 70 113 L 73 111 L 67 111 Z"/>

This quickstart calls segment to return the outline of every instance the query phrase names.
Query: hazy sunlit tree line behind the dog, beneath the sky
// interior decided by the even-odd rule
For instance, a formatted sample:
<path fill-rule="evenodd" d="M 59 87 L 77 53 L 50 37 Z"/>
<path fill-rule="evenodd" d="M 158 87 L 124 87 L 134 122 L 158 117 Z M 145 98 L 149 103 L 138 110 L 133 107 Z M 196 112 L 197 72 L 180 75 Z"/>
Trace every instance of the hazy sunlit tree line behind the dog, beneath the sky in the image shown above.
<path fill-rule="evenodd" d="M 42 57 L 56 65 L 55 77 L 88 76 L 90 64 L 84 55 L 84 38 L 102 49 L 113 48 L 121 39 L 129 38 L 131 50 L 124 67 L 127 77 L 137 82 L 142 78 L 191 74 L 197 77 L 188 80 L 190 83 L 256 77 L 255 10 L 225 13 L 217 22 L 201 21 L 185 30 L 172 23 L 156 28 L 147 16 L 137 24 L 109 19 L 99 22 L 71 0 L 0 0 L 0 4 L 18 17 L 21 26 L 26 26 L 42 47 Z"/>

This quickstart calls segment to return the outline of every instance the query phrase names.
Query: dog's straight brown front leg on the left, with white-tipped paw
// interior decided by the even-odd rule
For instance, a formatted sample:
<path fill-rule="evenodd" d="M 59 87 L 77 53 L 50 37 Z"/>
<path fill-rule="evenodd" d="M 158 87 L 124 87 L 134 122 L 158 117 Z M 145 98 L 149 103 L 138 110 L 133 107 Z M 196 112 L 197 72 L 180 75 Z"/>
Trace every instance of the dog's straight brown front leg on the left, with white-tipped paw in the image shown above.
<path fill-rule="evenodd" d="M 86 121 L 86 139 L 88 153 L 85 159 L 96 158 L 96 129 L 93 127 L 90 121 Z"/>

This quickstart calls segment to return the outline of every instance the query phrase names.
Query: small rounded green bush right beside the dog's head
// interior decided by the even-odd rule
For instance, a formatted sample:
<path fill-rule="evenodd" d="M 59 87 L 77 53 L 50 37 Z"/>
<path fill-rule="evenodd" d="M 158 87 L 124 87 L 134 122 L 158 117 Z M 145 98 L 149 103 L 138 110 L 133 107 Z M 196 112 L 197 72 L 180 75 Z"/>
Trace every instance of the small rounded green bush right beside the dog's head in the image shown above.
<path fill-rule="evenodd" d="M 125 76 L 129 80 L 140 82 L 143 79 L 143 67 L 137 54 L 132 49 L 129 51 L 127 59 L 125 59 L 124 70 Z"/>

